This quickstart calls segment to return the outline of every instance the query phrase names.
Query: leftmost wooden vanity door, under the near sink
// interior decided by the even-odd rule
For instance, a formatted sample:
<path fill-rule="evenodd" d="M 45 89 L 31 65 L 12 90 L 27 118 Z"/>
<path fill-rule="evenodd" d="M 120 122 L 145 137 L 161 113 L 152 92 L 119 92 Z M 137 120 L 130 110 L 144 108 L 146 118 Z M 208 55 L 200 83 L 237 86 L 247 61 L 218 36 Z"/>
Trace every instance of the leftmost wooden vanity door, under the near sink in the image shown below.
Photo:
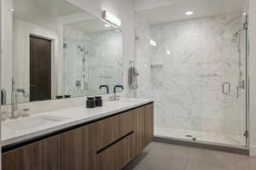
<path fill-rule="evenodd" d="M 61 135 L 4 153 L 3 170 L 61 170 Z"/>

